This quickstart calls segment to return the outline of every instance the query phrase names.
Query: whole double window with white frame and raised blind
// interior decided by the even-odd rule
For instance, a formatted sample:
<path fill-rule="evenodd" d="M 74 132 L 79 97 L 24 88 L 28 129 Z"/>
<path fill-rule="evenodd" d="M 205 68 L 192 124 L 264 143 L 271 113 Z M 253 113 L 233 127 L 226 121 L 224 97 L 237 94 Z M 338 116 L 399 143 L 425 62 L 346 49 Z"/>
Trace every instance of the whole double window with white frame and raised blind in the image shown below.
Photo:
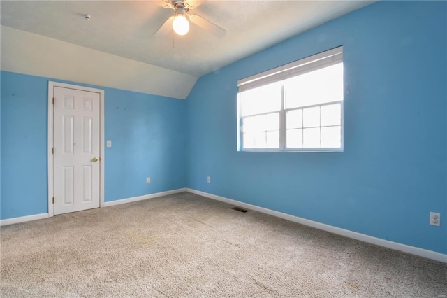
<path fill-rule="evenodd" d="M 343 151 L 343 47 L 237 87 L 238 150 Z"/>

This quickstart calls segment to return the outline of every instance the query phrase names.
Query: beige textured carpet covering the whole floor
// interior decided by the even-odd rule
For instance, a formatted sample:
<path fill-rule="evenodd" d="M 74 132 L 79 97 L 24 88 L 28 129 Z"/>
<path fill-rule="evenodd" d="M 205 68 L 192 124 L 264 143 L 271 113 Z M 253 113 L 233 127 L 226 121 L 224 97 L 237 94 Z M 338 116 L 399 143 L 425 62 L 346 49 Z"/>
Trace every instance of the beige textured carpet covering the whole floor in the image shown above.
<path fill-rule="evenodd" d="M 1 297 L 447 295 L 447 264 L 232 207 L 182 193 L 1 227 Z"/>

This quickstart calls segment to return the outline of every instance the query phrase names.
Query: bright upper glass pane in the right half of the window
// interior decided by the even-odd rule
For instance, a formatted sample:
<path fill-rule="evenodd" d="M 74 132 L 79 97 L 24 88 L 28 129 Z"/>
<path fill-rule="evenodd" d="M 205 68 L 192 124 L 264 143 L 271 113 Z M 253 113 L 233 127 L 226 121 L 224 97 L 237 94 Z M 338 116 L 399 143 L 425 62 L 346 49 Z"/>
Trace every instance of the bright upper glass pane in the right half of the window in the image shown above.
<path fill-rule="evenodd" d="M 284 80 L 286 108 L 343 100 L 343 63 Z"/>

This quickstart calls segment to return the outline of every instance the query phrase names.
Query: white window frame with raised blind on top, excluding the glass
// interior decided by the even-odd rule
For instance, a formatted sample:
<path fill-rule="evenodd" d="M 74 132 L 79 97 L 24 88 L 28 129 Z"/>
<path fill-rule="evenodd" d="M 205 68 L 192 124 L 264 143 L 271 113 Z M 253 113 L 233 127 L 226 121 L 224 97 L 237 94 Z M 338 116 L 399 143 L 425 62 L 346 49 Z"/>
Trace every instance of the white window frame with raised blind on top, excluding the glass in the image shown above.
<path fill-rule="evenodd" d="M 333 48 L 332 50 L 327 50 L 325 52 L 318 53 L 300 59 L 283 66 L 279 66 L 275 69 L 270 69 L 262 73 L 257 73 L 254 76 L 249 76 L 248 78 L 243 78 L 237 80 L 237 150 L 238 151 L 248 151 L 248 152 L 277 152 L 277 151 L 295 151 L 295 152 L 343 152 L 344 151 L 344 100 L 340 101 L 330 101 L 323 104 L 314 104 L 309 106 L 300 106 L 296 108 L 284 108 L 285 104 L 285 92 L 284 86 L 281 90 L 281 108 L 279 111 L 268 111 L 266 113 L 259 113 L 255 115 L 247 115 L 242 117 L 241 113 L 241 98 L 240 93 L 256 87 L 261 87 L 263 85 L 268 85 L 270 83 L 276 83 L 288 78 L 295 76 L 300 76 L 304 73 L 310 71 L 315 71 L 317 69 L 323 69 L 325 67 L 343 63 L 343 46 L 338 48 Z M 311 108 L 313 106 L 325 106 L 330 104 L 340 104 L 341 105 L 341 140 L 339 148 L 287 148 L 286 147 L 286 113 L 288 111 L 299 110 L 303 108 Z M 267 115 L 270 113 L 279 113 L 279 148 L 243 148 L 244 144 L 244 134 L 242 132 L 242 122 L 244 118 L 253 117 L 256 115 Z M 337 125 L 338 126 L 338 125 Z M 320 126 L 319 127 L 326 127 Z"/>

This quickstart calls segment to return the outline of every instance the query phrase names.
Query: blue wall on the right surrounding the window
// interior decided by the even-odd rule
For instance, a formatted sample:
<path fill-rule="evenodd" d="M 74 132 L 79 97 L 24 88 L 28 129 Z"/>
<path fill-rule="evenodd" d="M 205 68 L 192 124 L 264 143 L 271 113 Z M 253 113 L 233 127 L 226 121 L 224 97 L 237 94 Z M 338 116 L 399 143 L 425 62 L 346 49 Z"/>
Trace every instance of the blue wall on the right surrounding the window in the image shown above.
<path fill-rule="evenodd" d="M 186 99 L 188 187 L 447 253 L 446 12 L 374 3 L 200 78 Z M 339 45 L 344 152 L 237 152 L 236 81 Z"/>

